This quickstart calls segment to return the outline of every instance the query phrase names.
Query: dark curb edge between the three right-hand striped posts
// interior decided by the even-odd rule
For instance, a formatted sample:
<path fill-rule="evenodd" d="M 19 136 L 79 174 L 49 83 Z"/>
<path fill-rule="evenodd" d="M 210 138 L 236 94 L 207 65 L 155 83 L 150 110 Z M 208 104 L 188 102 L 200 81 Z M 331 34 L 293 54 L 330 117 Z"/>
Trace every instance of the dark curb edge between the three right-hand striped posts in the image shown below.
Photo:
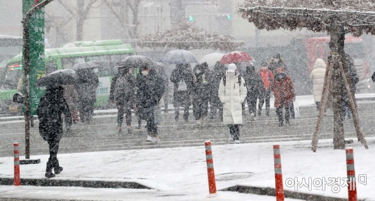
<path fill-rule="evenodd" d="M 221 189 L 220 191 L 235 191 L 235 192 L 240 192 L 240 193 L 251 193 L 251 194 L 258 194 L 258 195 L 275 196 L 275 188 L 271 188 L 271 187 L 235 185 L 235 186 Z M 323 196 L 319 194 L 297 192 L 297 191 L 290 191 L 290 190 L 284 190 L 284 197 L 292 198 L 292 199 L 302 199 L 302 200 L 308 200 L 308 201 L 347 201 L 348 200 L 346 198 L 330 197 L 330 196 Z M 365 199 L 358 199 L 358 200 L 364 201 Z"/>

